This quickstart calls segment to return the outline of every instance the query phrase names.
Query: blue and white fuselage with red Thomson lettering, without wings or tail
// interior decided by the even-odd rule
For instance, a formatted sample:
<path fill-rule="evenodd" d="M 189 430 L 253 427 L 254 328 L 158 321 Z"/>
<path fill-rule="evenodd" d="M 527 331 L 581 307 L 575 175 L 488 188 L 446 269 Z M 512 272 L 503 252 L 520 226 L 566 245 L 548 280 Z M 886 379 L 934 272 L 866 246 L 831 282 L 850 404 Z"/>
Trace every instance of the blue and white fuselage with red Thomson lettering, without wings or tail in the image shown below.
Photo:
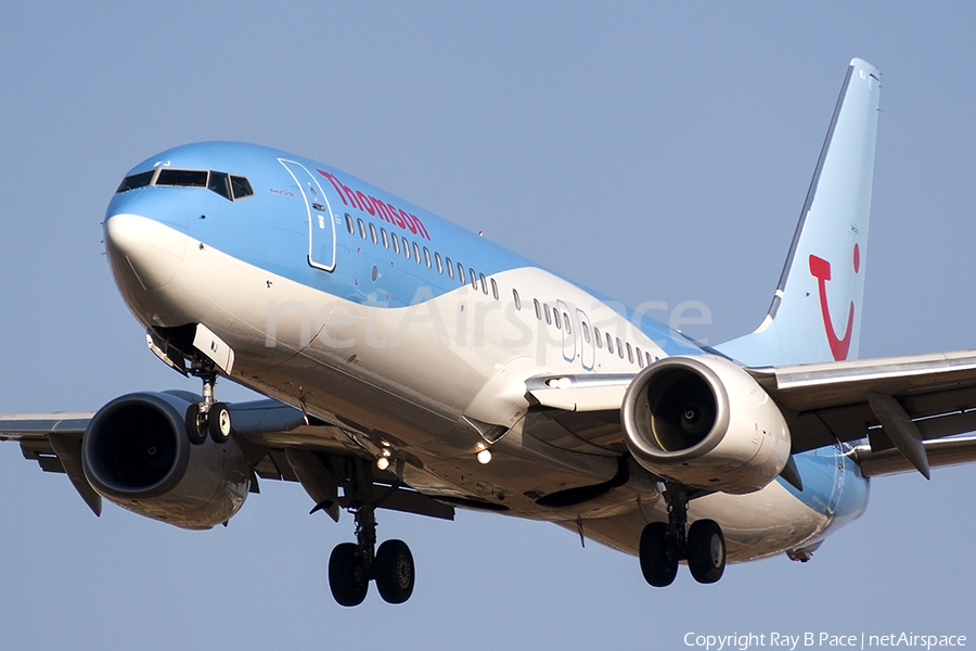
<path fill-rule="evenodd" d="M 149 329 L 205 324 L 233 381 L 393 450 L 404 481 L 549 520 L 635 553 L 667 521 L 659 477 L 628 463 L 619 422 L 552 426 L 527 392 L 543 376 L 633 376 L 711 356 L 680 333 L 359 179 L 264 146 L 179 146 L 134 167 L 112 200 L 106 248 Z M 535 419 L 535 420 L 534 420 Z M 313 442 L 309 442 L 310 444 Z M 491 452 L 490 463 L 478 454 Z M 724 533 L 729 560 L 804 558 L 857 518 L 868 481 L 835 447 L 778 477 L 712 493 L 690 516 Z M 560 500 L 605 486 L 591 499 Z"/>

